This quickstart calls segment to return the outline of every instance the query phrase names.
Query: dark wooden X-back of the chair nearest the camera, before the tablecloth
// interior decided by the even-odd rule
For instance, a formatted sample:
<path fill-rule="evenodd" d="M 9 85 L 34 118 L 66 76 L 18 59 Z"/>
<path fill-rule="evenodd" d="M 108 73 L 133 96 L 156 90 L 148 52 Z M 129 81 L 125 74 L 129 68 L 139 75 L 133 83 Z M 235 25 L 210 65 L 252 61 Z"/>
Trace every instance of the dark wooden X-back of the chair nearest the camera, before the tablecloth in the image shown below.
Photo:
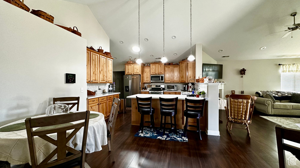
<path fill-rule="evenodd" d="M 86 137 L 88 132 L 88 121 L 89 121 L 90 112 L 76 112 L 70 114 L 61 114 L 55 116 L 47 116 L 47 117 L 39 117 L 39 118 L 26 118 L 25 125 L 26 125 L 26 132 L 29 144 L 29 153 L 32 168 L 47 168 L 52 167 L 67 161 L 70 161 L 75 158 L 81 157 L 81 164 L 80 167 L 84 167 L 85 163 L 85 146 L 86 146 Z M 74 121 L 84 120 L 83 122 L 67 125 L 67 126 L 60 126 L 58 128 L 50 128 L 44 130 L 35 130 L 33 131 L 32 128 L 36 127 L 45 127 L 45 126 L 54 126 L 58 124 L 65 124 Z M 82 137 L 82 150 L 78 151 L 66 144 L 69 140 L 82 128 L 84 127 L 83 137 Z M 68 130 L 74 129 L 69 136 L 67 135 Z M 57 133 L 57 140 L 49 137 L 47 134 Z M 34 137 L 38 136 L 47 142 L 57 146 L 41 163 L 38 163 L 36 149 L 35 149 L 35 139 Z M 72 153 L 73 155 L 66 156 L 66 151 Z M 53 156 L 57 154 L 57 160 L 49 162 Z"/>

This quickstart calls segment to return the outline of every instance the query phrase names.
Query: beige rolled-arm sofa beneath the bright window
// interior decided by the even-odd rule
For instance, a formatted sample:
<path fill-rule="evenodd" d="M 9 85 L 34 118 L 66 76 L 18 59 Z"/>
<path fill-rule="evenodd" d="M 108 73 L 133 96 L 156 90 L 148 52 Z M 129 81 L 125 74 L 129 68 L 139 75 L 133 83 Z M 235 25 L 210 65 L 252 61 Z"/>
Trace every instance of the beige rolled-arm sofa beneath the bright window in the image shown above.
<path fill-rule="evenodd" d="M 300 103 L 290 103 L 290 100 L 276 100 L 257 97 L 255 109 L 265 114 L 300 115 Z"/>

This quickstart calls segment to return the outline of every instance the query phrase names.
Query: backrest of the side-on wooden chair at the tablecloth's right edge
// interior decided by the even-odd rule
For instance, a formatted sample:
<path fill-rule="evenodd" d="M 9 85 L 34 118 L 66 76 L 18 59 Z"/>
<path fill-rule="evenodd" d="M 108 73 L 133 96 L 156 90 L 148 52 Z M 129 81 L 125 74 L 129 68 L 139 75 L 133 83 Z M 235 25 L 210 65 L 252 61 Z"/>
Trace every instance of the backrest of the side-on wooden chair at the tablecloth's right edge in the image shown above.
<path fill-rule="evenodd" d="M 108 118 L 107 130 L 110 132 L 111 137 L 115 132 L 116 119 L 118 115 L 118 109 L 120 107 L 121 100 L 118 98 L 113 99 L 113 105 L 110 110 L 110 117 Z"/>

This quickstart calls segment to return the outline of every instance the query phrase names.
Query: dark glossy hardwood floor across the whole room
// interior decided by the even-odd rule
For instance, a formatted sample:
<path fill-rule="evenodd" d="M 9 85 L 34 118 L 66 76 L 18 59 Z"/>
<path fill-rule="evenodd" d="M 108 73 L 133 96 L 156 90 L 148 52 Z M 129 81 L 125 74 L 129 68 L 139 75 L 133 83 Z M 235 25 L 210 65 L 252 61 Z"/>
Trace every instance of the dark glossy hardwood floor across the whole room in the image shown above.
<path fill-rule="evenodd" d="M 91 168 L 276 168 L 278 155 L 275 123 L 259 117 L 255 112 L 250 124 L 251 138 L 247 130 L 232 128 L 226 132 L 225 111 L 220 110 L 220 136 L 208 136 L 202 132 L 202 140 L 188 132 L 188 142 L 174 142 L 134 137 L 139 126 L 131 126 L 131 112 L 118 114 L 115 129 L 115 157 L 112 162 L 107 146 L 103 150 L 87 154 Z M 244 125 L 234 125 L 245 127 Z M 286 158 L 291 156 L 286 152 Z M 297 161 L 300 167 L 300 162 Z"/>

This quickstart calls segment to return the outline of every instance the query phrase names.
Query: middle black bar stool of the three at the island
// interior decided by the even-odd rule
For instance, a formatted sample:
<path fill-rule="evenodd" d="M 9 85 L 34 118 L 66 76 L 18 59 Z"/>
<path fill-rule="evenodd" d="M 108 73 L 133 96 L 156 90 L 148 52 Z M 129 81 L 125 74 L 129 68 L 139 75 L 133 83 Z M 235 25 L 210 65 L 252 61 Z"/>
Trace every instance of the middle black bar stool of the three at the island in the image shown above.
<path fill-rule="evenodd" d="M 169 129 L 175 129 L 176 135 L 177 133 L 177 126 L 176 126 L 176 114 L 177 114 L 177 102 L 178 97 L 175 98 L 161 98 L 159 97 L 159 102 L 161 106 L 161 125 L 164 125 L 164 135 L 166 131 L 166 124 L 170 125 Z M 164 123 L 163 123 L 163 116 L 164 116 Z M 166 117 L 169 116 L 171 123 L 166 123 Z M 172 116 L 174 117 L 174 124 L 172 123 Z"/>

